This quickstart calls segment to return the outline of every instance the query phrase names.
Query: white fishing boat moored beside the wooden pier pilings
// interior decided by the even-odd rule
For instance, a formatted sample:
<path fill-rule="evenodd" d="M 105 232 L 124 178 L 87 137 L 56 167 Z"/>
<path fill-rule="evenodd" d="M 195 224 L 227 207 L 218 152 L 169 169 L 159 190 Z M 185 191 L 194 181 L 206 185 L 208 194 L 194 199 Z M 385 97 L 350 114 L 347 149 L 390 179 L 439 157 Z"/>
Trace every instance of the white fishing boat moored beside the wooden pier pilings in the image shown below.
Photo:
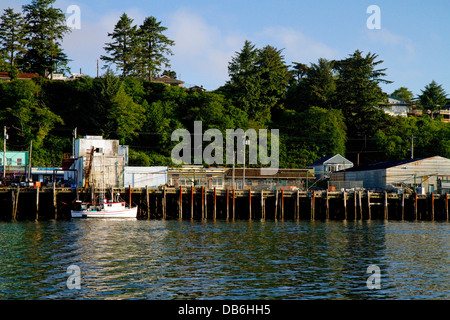
<path fill-rule="evenodd" d="M 86 203 L 75 201 L 71 210 L 72 218 L 136 218 L 137 207 L 128 207 L 125 201 L 103 203 Z"/>

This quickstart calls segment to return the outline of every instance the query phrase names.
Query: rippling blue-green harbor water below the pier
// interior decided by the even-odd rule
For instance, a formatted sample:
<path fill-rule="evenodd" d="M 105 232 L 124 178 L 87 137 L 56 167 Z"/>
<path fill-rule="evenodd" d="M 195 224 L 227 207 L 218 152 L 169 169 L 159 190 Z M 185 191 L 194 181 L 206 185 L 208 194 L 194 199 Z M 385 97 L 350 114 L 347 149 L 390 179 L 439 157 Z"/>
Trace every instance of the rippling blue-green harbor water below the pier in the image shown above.
<path fill-rule="evenodd" d="M 5 222 L 0 299 L 447 300 L 449 241 L 432 222 Z"/>

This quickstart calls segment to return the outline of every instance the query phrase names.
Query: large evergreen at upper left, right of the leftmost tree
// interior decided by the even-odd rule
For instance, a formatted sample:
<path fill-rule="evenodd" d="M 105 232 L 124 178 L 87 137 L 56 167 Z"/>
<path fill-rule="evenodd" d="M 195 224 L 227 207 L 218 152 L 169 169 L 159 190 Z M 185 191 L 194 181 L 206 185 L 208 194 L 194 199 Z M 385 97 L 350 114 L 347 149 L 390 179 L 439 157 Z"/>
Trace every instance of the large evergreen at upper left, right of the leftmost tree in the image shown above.
<path fill-rule="evenodd" d="M 55 0 L 32 0 L 23 6 L 27 31 L 27 52 L 21 66 L 41 76 L 65 70 L 69 59 L 61 48 L 61 41 L 70 32 L 61 9 L 54 8 Z"/>

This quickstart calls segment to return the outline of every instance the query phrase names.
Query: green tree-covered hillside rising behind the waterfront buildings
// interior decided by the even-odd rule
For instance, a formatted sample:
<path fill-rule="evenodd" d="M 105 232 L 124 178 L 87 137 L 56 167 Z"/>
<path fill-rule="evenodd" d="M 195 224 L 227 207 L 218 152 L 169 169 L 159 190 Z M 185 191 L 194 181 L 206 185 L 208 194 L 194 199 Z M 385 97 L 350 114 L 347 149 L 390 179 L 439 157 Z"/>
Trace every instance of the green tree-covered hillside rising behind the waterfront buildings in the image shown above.
<path fill-rule="evenodd" d="M 440 118 L 426 112 L 391 117 L 377 108 L 388 97 L 381 85 L 392 79 L 374 53 L 357 50 L 342 60 L 304 64 L 285 61 L 271 45 L 246 41 L 230 57 L 222 87 L 190 91 L 152 82 L 162 73 L 176 77 L 166 28 L 154 17 L 134 26 L 123 14 L 108 34 L 102 75 L 52 80 L 53 73 L 67 72 L 60 40 L 69 32 L 53 2 L 33 0 L 22 13 L 5 9 L 0 17 L 0 71 L 13 79 L 0 83 L 0 124 L 8 128 L 8 150 L 27 150 L 33 141 L 33 166 L 60 166 L 75 128 L 79 135 L 130 145 L 131 165 L 172 165 L 172 132 L 193 132 L 195 120 L 204 131 L 217 128 L 224 135 L 226 129 L 279 129 L 281 167 L 305 167 L 335 153 L 355 163 L 407 158 L 412 136 L 416 157 L 450 157 L 450 127 Z M 51 30 L 43 23 L 49 17 Z M 39 77 L 20 80 L 19 72 Z M 403 87 L 393 94 L 406 101 L 413 96 Z M 445 90 L 432 81 L 415 107 L 434 110 L 446 103 Z"/>

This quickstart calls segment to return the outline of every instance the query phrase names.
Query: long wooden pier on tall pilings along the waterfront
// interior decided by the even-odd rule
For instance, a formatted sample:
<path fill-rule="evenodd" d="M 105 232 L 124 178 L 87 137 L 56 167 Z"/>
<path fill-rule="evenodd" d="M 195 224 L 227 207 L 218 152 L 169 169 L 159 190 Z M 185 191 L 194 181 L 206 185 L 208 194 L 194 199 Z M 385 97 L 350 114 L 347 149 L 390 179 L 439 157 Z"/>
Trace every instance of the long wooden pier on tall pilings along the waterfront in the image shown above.
<path fill-rule="evenodd" d="M 0 188 L 0 220 L 65 220 L 75 200 L 97 202 L 100 189 Z M 138 219 L 448 221 L 448 194 L 363 191 L 110 188 L 138 206 Z"/>

